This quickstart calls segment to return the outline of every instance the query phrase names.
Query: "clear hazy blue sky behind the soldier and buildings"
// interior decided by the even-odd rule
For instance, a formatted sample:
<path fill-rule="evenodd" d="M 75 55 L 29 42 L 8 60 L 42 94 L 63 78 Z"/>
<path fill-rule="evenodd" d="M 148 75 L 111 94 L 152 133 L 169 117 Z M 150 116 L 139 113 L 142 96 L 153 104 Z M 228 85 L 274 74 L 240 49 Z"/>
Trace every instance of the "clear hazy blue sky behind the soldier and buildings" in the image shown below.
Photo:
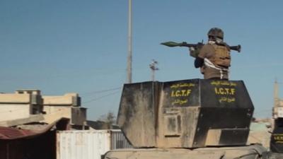
<path fill-rule="evenodd" d="M 242 46 L 232 53 L 231 80 L 246 83 L 255 117 L 270 117 L 273 83 L 283 82 L 283 1 L 132 3 L 133 82 L 151 79 L 151 59 L 158 81 L 202 78 L 187 48 L 159 44 L 207 42 L 207 31 L 219 27 L 229 45 Z M 127 0 L 0 0 L 0 91 L 74 92 L 88 119 L 117 114 L 127 80 L 127 9 Z"/>

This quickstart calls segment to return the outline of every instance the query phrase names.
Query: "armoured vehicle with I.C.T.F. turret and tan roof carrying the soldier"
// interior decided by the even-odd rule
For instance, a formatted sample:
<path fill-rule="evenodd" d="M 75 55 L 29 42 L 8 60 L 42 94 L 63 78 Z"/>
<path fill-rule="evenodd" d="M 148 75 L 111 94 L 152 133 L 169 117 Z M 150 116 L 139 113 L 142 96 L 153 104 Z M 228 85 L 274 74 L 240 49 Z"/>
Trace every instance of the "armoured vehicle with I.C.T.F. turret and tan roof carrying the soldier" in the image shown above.
<path fill-rule="evenodd" d="M 243 81 L 190 79 L 125 84 L 117 124 L 134 148 L 107 159 L 266 159 L 246 145 L 253 102 Z"/>

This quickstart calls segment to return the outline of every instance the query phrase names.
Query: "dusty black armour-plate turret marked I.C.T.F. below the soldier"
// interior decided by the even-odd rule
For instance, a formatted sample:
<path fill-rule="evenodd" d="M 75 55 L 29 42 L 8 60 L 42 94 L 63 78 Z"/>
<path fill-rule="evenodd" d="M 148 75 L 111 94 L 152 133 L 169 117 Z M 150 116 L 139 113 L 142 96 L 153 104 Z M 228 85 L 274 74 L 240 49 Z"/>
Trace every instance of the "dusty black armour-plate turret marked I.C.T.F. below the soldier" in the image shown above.
<path fill-rule="evenodd" d="M 243 81 L 192 79 L 125 84 L 117 123 L 134 147 L 246 145 L 253 103 Z M 137 137 L 139 136 L 139 137 Z"/>

